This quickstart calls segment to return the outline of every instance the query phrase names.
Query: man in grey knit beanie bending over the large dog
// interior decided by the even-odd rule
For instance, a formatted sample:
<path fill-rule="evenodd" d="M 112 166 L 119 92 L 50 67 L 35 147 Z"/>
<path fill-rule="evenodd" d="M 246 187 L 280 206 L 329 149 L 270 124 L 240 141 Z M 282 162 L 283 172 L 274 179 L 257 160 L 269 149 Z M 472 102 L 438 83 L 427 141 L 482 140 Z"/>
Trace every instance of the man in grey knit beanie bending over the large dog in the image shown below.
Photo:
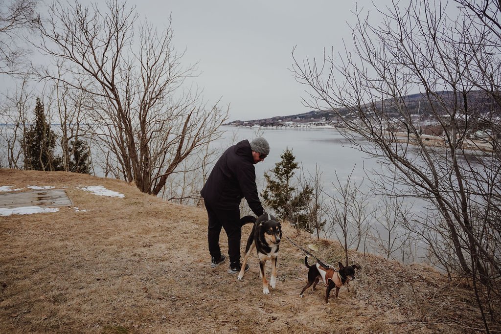
<path fill-rule="evenodd" d="M 208 242 L 211 267 L 216 267 L 226 257 L 219 248 L 221 227 L 228 235 L 229 273 L 240 271 L 240 201 L 243 197 L 250 209 L 257 215 L 264 213 L 256 186 L 254 165 L 265 160 L 270 145 L 263 137 L 252 142 L 242 140 L 230 146 L 212 168 L 207 182 L 200 191 L 209 220 Z M 245 271 L 248 264 L 245 265 Z"/>

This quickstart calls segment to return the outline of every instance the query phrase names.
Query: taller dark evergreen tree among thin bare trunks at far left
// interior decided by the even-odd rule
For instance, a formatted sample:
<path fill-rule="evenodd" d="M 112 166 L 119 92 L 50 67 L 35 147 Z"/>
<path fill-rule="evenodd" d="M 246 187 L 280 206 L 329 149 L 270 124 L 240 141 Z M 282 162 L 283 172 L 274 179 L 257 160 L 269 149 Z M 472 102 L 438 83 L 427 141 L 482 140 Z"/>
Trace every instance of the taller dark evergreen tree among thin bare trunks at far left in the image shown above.
<path fill-rule="evenodd" d="M 24 135 L 25 168 L 32 170 L 59 170 L 59 160 L 54 157 L 57 135 L 46 120 L 44 104 L 37 98 L 35 123 Z"/>

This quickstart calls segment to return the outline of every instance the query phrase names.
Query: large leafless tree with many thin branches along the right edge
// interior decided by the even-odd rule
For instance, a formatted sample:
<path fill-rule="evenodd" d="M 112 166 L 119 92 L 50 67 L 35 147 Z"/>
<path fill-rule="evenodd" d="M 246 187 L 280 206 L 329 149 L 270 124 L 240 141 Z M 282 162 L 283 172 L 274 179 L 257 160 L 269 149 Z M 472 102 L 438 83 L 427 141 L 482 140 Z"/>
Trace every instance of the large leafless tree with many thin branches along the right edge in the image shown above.
<path fill-rule="evenodd" d="M 311 89 L 310 104 L 332 110 L 345 138 L 388 167 L 380 175 L 383 193 L 429 203 L 419 221 L 439 234 L 432 246 L 452 247 L 454 261 L 443 263 L 472 279 L 488 331 L 488 316 L 495 323 L 501 304 L 500 4 L 459 3 L 464 15 L 454 19 L 440 2 L 394 4 L 379 26 L 358 11 L 353 52 L 295 61 L 294 69 Z M 469 15 L 472 7 L 476 15 Z M 474 140 L 479 131 L 487 144 Z M 482 289 L 496 297 L 483 299 Z"/>

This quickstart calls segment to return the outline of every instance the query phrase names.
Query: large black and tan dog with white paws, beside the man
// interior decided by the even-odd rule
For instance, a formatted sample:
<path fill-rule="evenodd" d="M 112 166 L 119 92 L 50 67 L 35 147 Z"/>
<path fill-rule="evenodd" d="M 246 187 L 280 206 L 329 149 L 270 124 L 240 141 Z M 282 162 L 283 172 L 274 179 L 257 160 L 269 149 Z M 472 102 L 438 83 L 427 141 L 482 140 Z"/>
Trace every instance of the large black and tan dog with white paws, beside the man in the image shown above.
<path fill-rule="evenodd" d="M 247 219 L 247 221 L 248 220 L 249 219 Z M 249 257 L 250 252 L 256 247 L 261 267 L 260 276 L 263 278 L 263 293 L 270 293 L 270 290 L 268 289 L 268 280 L 265 275 L 265 266 L 266 261 L 270 260 L 272 262 L 272 275 L 270 283 L 272 287 L 275 288 L 277 284 L 277 256 L 279 253 L 280 239 L 282 239 L 282 226 L 278 222 L 277 218 L 268 213 L 259 216 L 258 219 L 256 219 L 254 227 L 247 239 L 245 256 L 243 258 L 242 268 L 238 273 L 238 280 L 243 278 L 247 258 Z"/>

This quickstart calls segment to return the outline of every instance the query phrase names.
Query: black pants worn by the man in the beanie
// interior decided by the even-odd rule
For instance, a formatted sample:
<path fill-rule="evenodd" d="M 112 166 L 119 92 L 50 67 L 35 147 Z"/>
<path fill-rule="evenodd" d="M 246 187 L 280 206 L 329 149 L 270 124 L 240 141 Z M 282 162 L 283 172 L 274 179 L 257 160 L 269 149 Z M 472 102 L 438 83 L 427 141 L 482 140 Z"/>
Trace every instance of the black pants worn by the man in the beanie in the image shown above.
<path fill-rule="evenodd" d="M 240 238 L 242 229 L 240 225 L 240 210 L 238 207 L 234 209 L 215 209 L 205 203 L 207 216 L 209 218 L 209 227 L 207 238 L 209 241 L 210 256 L 219 256 L 221 248 L 219 247 L 219 234 L 221 227 L 224 228 L 228 236 L 228 255 L 231 263 L 240 262 Z"/>

